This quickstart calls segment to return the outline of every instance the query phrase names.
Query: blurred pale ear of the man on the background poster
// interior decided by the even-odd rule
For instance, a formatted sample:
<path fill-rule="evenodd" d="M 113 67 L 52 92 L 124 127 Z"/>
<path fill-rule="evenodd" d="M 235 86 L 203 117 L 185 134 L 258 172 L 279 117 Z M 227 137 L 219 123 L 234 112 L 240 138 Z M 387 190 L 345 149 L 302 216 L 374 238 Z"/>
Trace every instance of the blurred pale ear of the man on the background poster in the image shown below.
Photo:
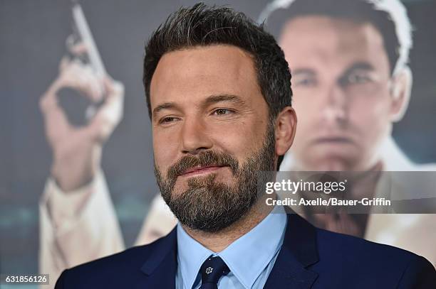
<path fill-rule="evenodd" d="M 391 106 L 391 120 L 393 122 L 403 119 L 408 109 L 410 92 L 412 90 L 412 72 L 408 66 L 395 73 L 392 80 L 390 94 L 393 97 Z"/>

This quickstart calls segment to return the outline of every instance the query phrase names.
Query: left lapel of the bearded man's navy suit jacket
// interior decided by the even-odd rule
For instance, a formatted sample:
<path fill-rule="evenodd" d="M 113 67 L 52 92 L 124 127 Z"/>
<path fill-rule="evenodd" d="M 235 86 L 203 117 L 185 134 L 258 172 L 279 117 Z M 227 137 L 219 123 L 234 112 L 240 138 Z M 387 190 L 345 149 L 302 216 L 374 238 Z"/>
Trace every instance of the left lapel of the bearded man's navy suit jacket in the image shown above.
<path fill-rule="evenodd" d="M 147 261 L 140 270 L 145 274 L 145 282 L 137 288 L 174 289 L 177 273 L 177 231 L 172 229 L 159 244 L 152 249 Z"/>

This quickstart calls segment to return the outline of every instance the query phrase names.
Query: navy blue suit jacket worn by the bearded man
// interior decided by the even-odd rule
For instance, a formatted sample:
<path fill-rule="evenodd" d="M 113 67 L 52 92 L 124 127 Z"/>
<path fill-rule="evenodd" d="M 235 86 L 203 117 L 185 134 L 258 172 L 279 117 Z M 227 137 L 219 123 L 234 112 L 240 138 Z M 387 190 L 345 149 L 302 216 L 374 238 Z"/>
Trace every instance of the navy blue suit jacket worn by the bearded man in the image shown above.
<path fill-rule="evenodd" d="M 174 229 L 152 244 L 63 271 L 56 289 L 175 288 L 176 271 Z M 318 229 L 289 214 L 284 244 L 264 288 L 435 289 L 436 271 L 414 253 Z"/>

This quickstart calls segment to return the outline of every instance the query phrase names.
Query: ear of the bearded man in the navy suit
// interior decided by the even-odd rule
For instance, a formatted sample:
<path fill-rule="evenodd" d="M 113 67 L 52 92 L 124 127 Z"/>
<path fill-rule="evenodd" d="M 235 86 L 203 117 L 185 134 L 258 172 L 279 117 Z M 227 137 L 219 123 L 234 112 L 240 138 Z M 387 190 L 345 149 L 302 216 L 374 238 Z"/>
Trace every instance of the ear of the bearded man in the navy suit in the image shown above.
<path fill-rule="evenodd" d="M 292 107 L 285 107 L 276 118 L 276 154 L 283 156 L 294 142 L 296 113 Z"/>

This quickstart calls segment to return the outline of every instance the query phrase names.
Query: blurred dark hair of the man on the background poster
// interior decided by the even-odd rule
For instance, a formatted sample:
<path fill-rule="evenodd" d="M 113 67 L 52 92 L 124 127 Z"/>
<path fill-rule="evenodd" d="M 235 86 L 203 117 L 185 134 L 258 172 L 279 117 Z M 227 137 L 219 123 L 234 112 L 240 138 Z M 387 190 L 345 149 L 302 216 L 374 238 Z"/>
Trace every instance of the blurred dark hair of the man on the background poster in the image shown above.
<path fill-rule="evenodd" d="M 368 22 L 378 30 L 383 38 L 390 71 L 393 73 L 398 58 L 400 58 L 400 40 L 395 31 L 392 15 L 388 11 L 378 9 L 375 5 L 376 1 L 365 0 L 294 0 L 289 1 L 286 8 L 278 7 L 270 11 L 266 26 L 274 36 L 279 36 L 285 23 L 301 16 L 327 16 L 356 23 Z"/>

